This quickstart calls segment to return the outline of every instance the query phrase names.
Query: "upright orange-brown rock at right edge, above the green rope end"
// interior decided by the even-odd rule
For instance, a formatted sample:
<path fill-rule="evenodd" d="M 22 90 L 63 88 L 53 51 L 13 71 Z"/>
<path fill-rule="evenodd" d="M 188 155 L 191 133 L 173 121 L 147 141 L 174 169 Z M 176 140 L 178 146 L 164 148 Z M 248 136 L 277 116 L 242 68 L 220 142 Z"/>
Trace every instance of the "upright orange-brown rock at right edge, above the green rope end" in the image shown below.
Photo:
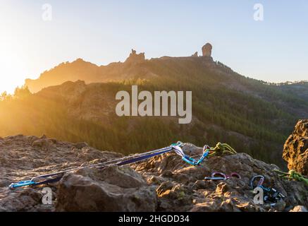
<path fill-rule="evenodd" d="M 293 133 L 285 142 L 283 159 L 288 168 L 308 175 L 308 119 L 297 122 Z"/>

